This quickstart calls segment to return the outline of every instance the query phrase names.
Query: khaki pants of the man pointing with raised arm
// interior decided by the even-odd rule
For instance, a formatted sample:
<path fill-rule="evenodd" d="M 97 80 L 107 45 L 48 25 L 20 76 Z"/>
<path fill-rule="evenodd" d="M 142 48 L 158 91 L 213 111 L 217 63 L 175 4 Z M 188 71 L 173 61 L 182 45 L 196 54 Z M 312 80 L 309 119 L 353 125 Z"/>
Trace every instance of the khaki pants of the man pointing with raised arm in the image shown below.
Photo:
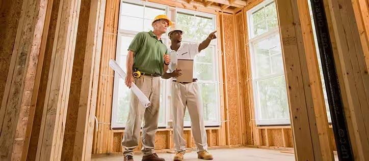
<path fill-rule="evenodd" d="M 186 140 L 183 139 L 183 118 L 186 106 L 191 118 L 191 130 L 197 151 L 207 150 L 206 131 L 202 117 L 202 99 L 197 82 L 172 82 L 173 109 L 173 141 L 176 152 L 186 150 Z"/>

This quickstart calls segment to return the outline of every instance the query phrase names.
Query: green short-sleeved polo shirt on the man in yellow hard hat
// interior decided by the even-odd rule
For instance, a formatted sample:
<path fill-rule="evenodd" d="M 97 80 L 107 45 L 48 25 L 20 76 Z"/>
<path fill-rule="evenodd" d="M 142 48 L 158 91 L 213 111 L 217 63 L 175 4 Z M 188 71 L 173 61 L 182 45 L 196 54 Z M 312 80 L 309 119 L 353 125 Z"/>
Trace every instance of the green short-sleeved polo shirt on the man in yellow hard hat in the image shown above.
<path fill-rule="evenodd" d="M 161 40 L 157 40 L 151 30 L 138 33 L 128 50 L 135 52 L 134 68 L 146 73 L 163 74 L 163 56 L 168 53 L 167 46 Z"/>

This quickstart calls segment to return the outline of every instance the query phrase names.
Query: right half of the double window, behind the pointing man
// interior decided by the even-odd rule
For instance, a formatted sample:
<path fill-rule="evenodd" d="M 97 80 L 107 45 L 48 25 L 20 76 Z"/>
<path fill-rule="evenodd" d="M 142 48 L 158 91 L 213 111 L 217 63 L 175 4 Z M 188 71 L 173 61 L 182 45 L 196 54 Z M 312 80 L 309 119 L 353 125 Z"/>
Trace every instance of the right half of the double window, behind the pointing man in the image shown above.
<path fill-rule="evenodd" d="M 183 43 L 201 43 L 216 30 L 215 15 L 189 10 L 177 10 L 176 23 L 183 27 Z M 195 77 L 201 88 L 203 118 L 205 125 L 220 125 L 219 80 L 217 64 L 217 40 L 202 50 L 194 60 Z M 190 126 L 188 110 L 184 115 L 184 126 Z"/>

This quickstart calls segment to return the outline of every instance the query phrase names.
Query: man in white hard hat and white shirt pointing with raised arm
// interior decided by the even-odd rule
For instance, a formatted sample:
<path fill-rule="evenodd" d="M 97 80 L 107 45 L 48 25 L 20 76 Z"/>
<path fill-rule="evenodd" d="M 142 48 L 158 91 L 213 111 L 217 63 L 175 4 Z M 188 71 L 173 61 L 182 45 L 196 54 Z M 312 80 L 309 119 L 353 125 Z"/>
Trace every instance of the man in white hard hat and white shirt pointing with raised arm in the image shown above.
<path fill-rule="evenodd" d="M 177 27 L 176 27 L 177 26 Z M 191 130 L 197 148 L 198 158 L 213 159 L 213 155 L 207 152 L 206 131 L 202 117 L 202 100 L 200 87 L 197 79 L 193 82 L 177 82 L 176 77 L 181 75 L 181 70 L 176 69 L 177 59 L 194 60 L 199 52 L 205 49 L 210 41 L 216 39 L 216 31 L 200 44 L 181 43 L 183 31 L 178 25 L 173 25 L 168 33 L 172 45 L 168 49 L 171 57 L 169 65 L 169 73 L 165 73 L 162 78 L 172 78 L 171 85 L 171 102 L 173 110 L 173 141 L 176 154 L 173 160 L 182 160 L 186 153 L 186 140 L 183 139 L 183 118 L 184 111 L 188 107 L 191 118 Z"/>

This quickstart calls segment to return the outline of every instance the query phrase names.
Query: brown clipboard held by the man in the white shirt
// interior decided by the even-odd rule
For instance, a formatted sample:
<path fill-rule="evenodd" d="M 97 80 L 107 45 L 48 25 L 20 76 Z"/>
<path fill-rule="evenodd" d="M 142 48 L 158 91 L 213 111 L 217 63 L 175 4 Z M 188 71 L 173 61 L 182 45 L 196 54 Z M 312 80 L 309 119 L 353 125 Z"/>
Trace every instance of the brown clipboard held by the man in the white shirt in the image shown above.
<path fill-rule="evenodd" d="M 182 75 L 177 77 L 177 82 L 192 82 L 194 74 L 194 60 L 178 59 L 177 69 L 182 70 Z"/>

